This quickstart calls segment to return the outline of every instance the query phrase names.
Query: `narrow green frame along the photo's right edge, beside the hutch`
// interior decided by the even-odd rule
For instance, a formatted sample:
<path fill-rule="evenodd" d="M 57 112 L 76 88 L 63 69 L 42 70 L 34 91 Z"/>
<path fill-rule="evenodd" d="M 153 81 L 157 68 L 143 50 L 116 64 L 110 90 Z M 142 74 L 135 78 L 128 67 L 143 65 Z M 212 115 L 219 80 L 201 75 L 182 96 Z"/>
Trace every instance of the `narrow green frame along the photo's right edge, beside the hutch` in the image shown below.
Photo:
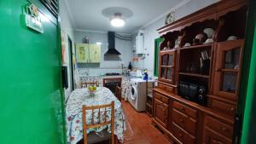
<path fill-rule="evenodd" d="M 256 1 L 249 3 L 247 40 L 241 76 L 238 112 L 243 115 L 241 144 L 256 143 Z"/>

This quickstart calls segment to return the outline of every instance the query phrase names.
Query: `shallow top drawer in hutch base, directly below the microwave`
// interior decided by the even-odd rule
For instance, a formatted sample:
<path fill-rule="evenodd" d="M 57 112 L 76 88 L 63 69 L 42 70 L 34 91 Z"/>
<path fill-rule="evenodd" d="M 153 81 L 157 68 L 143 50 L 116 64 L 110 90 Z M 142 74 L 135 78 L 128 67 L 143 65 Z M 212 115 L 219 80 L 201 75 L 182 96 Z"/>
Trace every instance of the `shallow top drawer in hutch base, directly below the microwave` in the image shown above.
<path fill-rule="evenodd" d="M 192 109 L 190 107 L 186 107 L 183 104 L 177 102 L 177 101 L 173 101 L 173 108 L 177 109 L 179 112 L 183 112 L 184 114 L 186 114 L 187 116 L 189 116 L 190 118 L 197 118 L 197 111 L 195 109 Z"/>

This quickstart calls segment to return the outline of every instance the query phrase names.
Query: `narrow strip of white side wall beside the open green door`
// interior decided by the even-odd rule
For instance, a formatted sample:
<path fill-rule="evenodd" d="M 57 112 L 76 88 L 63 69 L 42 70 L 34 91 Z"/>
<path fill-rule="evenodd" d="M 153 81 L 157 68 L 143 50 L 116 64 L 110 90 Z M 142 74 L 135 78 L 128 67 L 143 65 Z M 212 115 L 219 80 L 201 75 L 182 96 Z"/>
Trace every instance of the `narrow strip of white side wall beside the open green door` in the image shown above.
<path fill-rule="evenodd" d="M 68 74 L 68 88 L 65 89 L 65 98 L 71 93 L 71 72 L 69 70 L 69 49 L 68 49 L 68 37 L 73 41 L 73 23 L 70 19 L 69 14 L 67 13 L 67 7 L 65 5 L 64 0 L 60 1 L 60 17 L 61 17 L 61 31 L 65 33 L 65 49 L 66 49 L 66 64 L 64 66 L 68 66 L 67 74 Z M 73 50 L 74 52 L 74 50 Z"/>

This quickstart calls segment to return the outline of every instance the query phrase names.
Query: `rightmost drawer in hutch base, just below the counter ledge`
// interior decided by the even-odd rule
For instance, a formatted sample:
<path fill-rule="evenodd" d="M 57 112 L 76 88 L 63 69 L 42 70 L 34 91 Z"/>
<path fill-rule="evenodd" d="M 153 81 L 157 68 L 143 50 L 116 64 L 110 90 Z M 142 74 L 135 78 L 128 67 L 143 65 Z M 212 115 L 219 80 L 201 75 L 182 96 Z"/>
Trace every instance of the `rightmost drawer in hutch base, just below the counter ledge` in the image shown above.
<path fill-rule="evenodd" d="M 215 118 L 208 117 L 206 118 L 206 124 L 207 127 L 209 127 L 212 130 L 215 130 L 220 135 L 224 135 L 229 139 L 232 139 L 233 136 L 233 127 L 230 125 L 224 124 L 220 121 L 218 121 Z"/>

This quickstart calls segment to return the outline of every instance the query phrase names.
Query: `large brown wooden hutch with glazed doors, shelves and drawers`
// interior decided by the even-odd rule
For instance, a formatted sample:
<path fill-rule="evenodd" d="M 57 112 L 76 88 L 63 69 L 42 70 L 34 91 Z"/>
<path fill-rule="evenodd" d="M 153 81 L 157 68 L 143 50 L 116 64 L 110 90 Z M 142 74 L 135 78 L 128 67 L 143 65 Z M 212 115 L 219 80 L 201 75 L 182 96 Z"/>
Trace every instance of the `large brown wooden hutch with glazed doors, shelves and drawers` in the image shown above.
<path fill-rule="evenodd" d="M 246 0 L 220 1 L 158 30 L 165 40 L 152 122 L 173 141 L 231 144 L 236 138 L 246 19 Z"/>

